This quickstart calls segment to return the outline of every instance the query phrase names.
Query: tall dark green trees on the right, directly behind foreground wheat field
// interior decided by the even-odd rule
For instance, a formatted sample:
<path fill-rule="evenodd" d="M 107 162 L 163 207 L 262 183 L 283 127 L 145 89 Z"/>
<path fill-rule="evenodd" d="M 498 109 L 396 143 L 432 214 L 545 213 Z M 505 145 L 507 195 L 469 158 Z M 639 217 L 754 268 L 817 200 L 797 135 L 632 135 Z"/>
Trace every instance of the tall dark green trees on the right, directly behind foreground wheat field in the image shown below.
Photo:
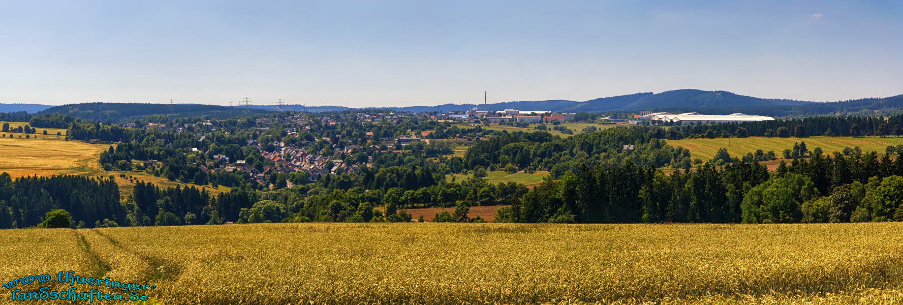
<path fill-rule="evenodd" d="M 582 166 L 500 208 L 508 222 L 848 222 L 903 220 L 903 160 L 875 152 L 781 162 L 706 162 L 666 175 L 628 162 Z"/>

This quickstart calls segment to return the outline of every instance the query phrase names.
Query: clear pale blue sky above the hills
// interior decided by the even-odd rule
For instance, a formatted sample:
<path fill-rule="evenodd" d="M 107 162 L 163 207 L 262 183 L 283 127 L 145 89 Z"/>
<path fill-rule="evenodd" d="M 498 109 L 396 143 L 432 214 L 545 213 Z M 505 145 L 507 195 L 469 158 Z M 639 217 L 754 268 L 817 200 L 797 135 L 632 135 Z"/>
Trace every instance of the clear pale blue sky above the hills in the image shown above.
<path fill-rule="evenodd" d="M 903 94 L 899 1 L 5 1 L 5 103 Z"/>

